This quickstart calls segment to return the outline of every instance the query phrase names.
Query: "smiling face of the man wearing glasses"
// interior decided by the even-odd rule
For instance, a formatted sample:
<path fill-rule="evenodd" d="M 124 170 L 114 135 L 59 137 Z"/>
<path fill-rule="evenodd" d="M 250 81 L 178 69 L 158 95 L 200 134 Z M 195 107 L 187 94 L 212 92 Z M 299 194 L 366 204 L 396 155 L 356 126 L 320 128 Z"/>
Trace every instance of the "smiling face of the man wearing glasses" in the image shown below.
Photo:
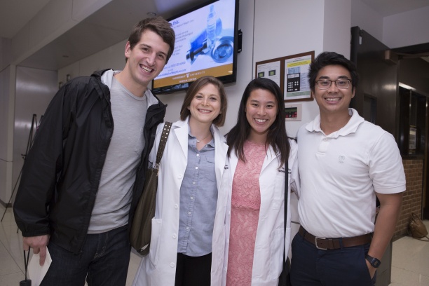
<path fill-rule="evenodd" d="M 341 65 L 327 65 L 318 72 L 316 81 L 327 79 L 335 81 L 337 79 L 351 79 L 348 69 Z M 314 88 L 313 97 L 319 105 L 320 114 L 348 114 L 350 100 L 355 96 L 353 82 L 345 89 L 340 89 L 333 82 L 326 90 L 321 90 L 316 85 Z"/>

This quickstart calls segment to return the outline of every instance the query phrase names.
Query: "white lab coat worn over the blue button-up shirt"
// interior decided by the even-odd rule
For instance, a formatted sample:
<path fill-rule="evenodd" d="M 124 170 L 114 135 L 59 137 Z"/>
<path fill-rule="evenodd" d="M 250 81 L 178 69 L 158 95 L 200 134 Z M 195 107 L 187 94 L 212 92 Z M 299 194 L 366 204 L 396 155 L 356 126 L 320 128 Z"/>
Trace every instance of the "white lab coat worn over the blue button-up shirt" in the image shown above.
<path fill-rule="evenodd" d="M 152 219 L 149 254 L 142 258 L 132 285 L 175 285 L 177 238 L 179 234 L 179 191 L 188 161 L 189 118 L 172 124 L 161 159 L 156 193 L 156 211 Z M 154 149 L 149 157 L 154 162 L 163 124 L 158 126 Z M 231 184 L 228 172 L 228 145 L 219 129 L 214 130 L 214 166 L 218 201 L 212 240 L 212 285 L 220 285 L 225 245 L 225 217 L 228 190 Z M 218 254 L 219 253 L 219 254 Z"/>

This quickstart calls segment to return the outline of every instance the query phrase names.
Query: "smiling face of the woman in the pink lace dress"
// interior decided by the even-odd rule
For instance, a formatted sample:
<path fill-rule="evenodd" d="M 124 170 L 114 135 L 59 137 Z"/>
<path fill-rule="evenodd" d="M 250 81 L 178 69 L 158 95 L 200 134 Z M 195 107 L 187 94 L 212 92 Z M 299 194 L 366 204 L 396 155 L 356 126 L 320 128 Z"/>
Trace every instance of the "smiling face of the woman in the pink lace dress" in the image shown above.
<path fill-rule="evenodd" d="M 249 137 L 251 141 L 266 142 L 268 130 L 277 117 L 277 111 L 278 104 L 273 93 L 260 88 L 250 93 L 245 112 L 251 128 Z"/>

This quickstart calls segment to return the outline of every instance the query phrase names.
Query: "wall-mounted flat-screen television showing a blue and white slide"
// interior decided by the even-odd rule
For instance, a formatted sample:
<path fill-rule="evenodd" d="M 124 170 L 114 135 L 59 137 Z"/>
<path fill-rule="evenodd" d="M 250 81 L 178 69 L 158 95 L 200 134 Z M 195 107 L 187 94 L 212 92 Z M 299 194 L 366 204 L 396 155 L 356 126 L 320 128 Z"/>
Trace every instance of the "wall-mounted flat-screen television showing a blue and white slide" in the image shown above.
<path fill-rule="evenodd" d="M 175 50 L 152 81 L 154 93 L 185 90 L 201 76 L 236 81 L 238 1 L 207 1 L 168 22 L 175 30 Z"/>

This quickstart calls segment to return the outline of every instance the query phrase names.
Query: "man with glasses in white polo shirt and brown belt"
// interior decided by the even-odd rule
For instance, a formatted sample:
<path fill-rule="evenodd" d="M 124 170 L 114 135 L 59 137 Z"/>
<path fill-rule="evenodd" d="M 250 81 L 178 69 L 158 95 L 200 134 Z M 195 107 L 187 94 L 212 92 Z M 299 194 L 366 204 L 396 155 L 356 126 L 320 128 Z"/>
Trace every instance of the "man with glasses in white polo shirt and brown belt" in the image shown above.
<path fill-rule="evenodd" d="M 390 133 L 348 108 L 358 82 L 353 62 L 321 53 L 308 78 L 320 115 L 297 135 L 301 227 L 292 285 L 374 285 L 405 191 L 402 158 Z"/>

